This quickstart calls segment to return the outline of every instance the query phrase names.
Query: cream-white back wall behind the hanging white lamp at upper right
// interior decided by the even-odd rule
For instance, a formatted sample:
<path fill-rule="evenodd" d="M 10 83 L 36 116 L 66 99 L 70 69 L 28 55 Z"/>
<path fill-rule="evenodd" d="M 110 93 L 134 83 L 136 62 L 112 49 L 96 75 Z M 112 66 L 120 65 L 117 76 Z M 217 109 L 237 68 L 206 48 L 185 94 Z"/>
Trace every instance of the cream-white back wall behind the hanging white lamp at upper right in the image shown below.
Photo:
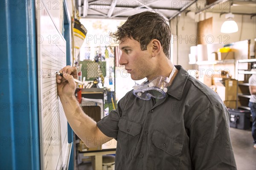
<path fill-rule="evenodd" d="M 176 65 L 182 65 L 185 69 L 196 68 L 195 65 L 189 65 L 189 53 L 190 46 L 196 45 L 192 37 L 197 35 L 197 22 L 212 17 L 212 40 L 209 38 L 209 43 L 225 43 L 229 44 L 241 40 L 251 40 L 251 44 L 254 44 L 254 38 L 256 38 L 256 17 L 250 19 L 250 15 L 235 15 L 234 20 L 238 24 L 239 31 L 232 34 L 221 33 L 221 25 L 224 23 L 225 14 L 218 13 L 202 13 L 195 15 L 194 12 L 189 12 L 185 16 L 183 12 L 180 17 L 175 17 L 170 22 L 172 34 L 174 34 L 173 41 L 173 63 Z M 243 20 L 242 20 L 243 18 Z M 178 26 L 176 32 L 176 23 L 178 20 Z M 177 37 L 179 39 L 177 40 Z M 176 39 L 175 39 L 176 38 Z M 181 39 L 182 38 L 182 39 Z M 205 38 L 205 37 L 204 37 Z M 178 52 L 177 52 L 178 46 Z M 177 58 L 178 57 L 178 58 Z"/>

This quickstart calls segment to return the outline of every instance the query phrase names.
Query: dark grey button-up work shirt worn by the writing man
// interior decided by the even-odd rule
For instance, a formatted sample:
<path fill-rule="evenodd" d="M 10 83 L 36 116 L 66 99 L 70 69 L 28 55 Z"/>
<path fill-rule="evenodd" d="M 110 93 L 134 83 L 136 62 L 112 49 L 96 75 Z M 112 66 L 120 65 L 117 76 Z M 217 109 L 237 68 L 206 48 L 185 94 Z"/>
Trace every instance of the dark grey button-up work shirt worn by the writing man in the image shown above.
<path fill-rule="evenodd" d="M 165 98 L 128 92 L 97 123 L 116 138 L 117 170 L 231 170 L 229 112 L 218 94 L 180 66 Z"/>

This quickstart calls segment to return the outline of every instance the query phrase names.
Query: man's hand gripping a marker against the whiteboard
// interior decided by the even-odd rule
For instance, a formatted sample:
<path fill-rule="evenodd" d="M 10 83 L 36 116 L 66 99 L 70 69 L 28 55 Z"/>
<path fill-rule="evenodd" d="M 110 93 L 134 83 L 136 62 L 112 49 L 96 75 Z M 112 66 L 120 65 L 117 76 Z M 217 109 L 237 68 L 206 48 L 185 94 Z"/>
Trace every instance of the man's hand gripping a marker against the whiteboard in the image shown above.
<path fill-rule="evenodd" d="M 63 77 L 57 74 L 58 96 L 74 96 L 77 86 L 74 79 L 78 79 L 77 68 L 67 65 L 59 72 Z"/>

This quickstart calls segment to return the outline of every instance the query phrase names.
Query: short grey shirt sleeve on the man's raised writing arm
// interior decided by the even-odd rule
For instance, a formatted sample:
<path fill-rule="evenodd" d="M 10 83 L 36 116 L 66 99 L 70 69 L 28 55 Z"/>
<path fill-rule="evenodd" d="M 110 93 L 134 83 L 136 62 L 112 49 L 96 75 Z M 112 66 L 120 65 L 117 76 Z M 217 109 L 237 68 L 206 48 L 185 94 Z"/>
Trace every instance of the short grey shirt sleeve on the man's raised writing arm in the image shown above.
<path fill-rule="evenodd" d="M 110 111 L 108 116 L 105 116 L 103 119 L 97 122 L 99 130 L 101 130 L 102 133 L 108 137 L 117 138 L 118 122 L 121 115 L 122 111 L 118 102 L 116 110 Z"/>

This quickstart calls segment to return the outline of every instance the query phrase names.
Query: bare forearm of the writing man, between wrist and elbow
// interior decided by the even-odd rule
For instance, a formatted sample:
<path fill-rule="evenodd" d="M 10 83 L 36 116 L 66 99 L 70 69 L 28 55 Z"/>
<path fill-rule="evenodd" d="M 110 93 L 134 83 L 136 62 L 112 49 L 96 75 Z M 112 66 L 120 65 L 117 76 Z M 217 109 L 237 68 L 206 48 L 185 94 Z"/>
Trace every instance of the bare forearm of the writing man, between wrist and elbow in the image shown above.
<path fill-rule="evenodd" d="M 102 144 L 95 144 L 92 140 L 96 139 L 97 125 L 96 122 L 87 116 L 81 109 L 76 97 L 60 97 L 61 103 L 67 117 L 67 121 L 77 136 L 87 145 L 87 147 L 95 147 Z M 90 140 L 90 142 L 88 142 Z"/>

